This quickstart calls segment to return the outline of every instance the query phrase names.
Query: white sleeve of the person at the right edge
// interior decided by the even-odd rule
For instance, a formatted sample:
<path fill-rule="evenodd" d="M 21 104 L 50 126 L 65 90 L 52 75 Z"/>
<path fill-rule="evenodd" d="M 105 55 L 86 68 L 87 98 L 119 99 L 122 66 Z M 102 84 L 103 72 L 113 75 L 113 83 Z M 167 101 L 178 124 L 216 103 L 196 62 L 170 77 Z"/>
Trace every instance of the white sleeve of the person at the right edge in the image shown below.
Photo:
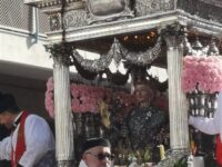
<path fill-rule="evenodd" d="M 222 139 L 222 91 L 218 96 L 218 109 L 213 118 L 190 116 L 189 124 L 209 135 L 220 134 Z"/>

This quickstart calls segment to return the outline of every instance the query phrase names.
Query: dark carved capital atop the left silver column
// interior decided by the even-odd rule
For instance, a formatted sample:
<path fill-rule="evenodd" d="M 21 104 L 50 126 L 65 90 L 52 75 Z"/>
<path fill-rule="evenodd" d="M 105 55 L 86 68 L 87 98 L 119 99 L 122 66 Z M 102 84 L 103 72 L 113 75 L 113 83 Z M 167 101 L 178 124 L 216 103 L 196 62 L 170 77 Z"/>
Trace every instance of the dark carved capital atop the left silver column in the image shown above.
<path fill-rule="evenodd" d="M 71 63 L 72 46 L 68 43 L 46 46 L 46 50 L 51 53 L 52 58 L 58 59 L 63 65 Z"/>

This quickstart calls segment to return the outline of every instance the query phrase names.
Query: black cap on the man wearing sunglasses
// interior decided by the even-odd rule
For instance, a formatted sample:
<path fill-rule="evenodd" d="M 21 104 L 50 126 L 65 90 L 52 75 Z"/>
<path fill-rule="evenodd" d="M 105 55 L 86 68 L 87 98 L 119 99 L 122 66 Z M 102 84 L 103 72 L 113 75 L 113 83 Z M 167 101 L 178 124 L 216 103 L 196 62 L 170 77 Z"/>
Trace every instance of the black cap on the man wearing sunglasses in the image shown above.
<path fill-rule="evenodd" d="M 103 146 L 103 147 L 111 147 L 110 141 L 108 139 L 104 138 L 90 138 L 88 140 L 85 140 L 85 143 L 83 144 L 82 147 L 82 154 L 92 148 L 92 147 L 97 147 L 97 146 Z"/>

